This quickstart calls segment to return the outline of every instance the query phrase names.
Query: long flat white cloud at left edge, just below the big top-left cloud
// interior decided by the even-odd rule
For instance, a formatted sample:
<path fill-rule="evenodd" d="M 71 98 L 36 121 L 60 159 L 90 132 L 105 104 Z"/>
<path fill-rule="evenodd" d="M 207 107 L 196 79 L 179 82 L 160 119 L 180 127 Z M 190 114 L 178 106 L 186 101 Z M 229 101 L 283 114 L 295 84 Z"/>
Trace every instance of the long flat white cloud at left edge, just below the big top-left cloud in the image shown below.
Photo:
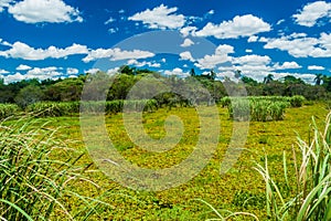
<path fill-rule="evenodd" d="M 11 49 L 7 51 L 0 51 L 0 56 L 23 59 L 23 60 L 45 60 L 45 59 L 61 59 L 74 54 L 87 54 L 88 49 L 84 45 L 73 44 L 65 49 L 57 49 L 55 46 L 50 46 L 49 49 L 33 49 L 25 43 L 15 42 L 12 44 Z"/>

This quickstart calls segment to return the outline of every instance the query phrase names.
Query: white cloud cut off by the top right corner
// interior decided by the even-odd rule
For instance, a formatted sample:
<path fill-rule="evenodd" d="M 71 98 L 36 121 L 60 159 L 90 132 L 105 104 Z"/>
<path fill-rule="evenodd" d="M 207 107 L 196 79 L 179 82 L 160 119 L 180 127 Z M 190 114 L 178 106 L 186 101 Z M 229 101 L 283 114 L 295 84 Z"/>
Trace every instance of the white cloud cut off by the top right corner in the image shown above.
<path fill-rule="evenodd" d="M 317 21 L 324 17 L 331 17 L 331 2 L 316 1 L 308 3 L 298 14 L 293 14 L 296 22 L 303 27 L 313 27 Z"/>

